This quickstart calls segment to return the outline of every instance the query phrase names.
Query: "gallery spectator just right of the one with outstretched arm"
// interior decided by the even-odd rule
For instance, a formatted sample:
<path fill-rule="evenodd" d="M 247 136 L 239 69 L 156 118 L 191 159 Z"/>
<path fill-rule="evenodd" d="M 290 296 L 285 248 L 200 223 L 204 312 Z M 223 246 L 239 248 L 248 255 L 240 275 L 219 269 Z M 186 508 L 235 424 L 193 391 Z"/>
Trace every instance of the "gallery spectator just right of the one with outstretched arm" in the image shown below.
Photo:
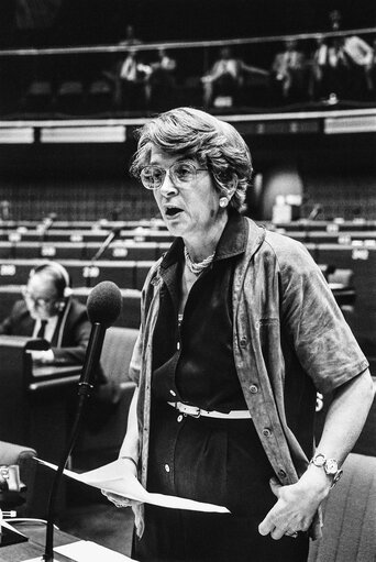
<path fill-rule="evenodd" d="M 284 51 L 272 64 L 272 88 L 277 100 L 296 101 L 306 93 L 306 56 L 294 38 L 286 40 Z"/>

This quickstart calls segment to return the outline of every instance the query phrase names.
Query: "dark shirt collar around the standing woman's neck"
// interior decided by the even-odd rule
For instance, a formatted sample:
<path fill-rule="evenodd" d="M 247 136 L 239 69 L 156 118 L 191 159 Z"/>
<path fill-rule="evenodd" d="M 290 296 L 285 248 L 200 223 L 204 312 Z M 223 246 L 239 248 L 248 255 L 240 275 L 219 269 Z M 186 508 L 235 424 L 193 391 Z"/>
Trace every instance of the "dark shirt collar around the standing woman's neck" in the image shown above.
<path fill-rule="evenodd" d="M 248 234 L 247 221 L 235 210 L 229 211 L 229 220 L 219 240 L 214 261 L 225 260 L 245 252 Z M 170 265 L 179 262 L 183 256 L 184 242 L 181 238 L 174 240 L 169 250 L 164 255 L 161 268 L 167 269 Z"/>

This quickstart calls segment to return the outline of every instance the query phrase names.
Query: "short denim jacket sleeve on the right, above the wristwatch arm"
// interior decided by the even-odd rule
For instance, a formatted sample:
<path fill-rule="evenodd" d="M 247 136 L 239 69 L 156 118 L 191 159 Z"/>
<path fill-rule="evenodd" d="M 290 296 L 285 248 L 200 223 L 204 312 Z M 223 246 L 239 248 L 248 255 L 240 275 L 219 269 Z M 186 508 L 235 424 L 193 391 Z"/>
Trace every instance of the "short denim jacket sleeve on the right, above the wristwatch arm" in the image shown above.
<path fill-rule="evenodd" d="M 297 356 L 317 388 L 333 390 L 365 371 L 367 360 L 308 251 L 295 242 L 278 263 L 283 318 Z"/>

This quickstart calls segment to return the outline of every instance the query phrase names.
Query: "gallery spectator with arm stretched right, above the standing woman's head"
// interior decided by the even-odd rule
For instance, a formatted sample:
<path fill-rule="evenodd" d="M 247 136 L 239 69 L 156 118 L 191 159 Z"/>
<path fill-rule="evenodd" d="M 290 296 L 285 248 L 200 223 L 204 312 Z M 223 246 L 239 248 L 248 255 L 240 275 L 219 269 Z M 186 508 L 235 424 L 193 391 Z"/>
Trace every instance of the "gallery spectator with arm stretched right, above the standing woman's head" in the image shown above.
<path fill-rule="evenodd" d="M 251 66 L 235 57 L 229 46 L 220 49 L 220 57 L 208 74 L 201 77 L 203 85 L 203 106 L 209 108 L 215 96 L 229 96 L 235 103 L 244 85 L 244 74 L 268 76 L 263 68 Z"/>

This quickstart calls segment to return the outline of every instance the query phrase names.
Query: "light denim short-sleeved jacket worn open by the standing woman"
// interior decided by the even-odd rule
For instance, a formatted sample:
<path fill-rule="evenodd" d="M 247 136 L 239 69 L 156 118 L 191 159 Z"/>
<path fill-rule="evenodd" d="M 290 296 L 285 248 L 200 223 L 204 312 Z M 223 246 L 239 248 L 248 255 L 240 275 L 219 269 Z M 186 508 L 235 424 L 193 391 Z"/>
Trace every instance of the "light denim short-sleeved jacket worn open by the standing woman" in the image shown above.
<path fill-rule="evenodd" d="M 246 219 L 246 250 L 235 266 L 233 353 L 237 376 L 254 426 L 268 460 L 284 485 L 297 482 L 308 458 L 286 419 L 285 365 L 294 376 L 332 390 L 365 371 L 368 363 L 343 319 L 333 295 L 302 244 L 269 232 Z M 162 258 L 152 267 L 142 290 L 142 322 L 130 376 L 139 385 L 140 480 L 146 486 L 151 417 L 152 342 L 159 309 Z M 288 341 L 288 345 L 283 342 Z M 292 355 L 298 361 L 292 361 Z M 313 436 L 312 449 L 313 449 Z M 135 510 L 143 532 L 143 507 Z M 321 518 L 310 535 L 321 536 Z"/>

